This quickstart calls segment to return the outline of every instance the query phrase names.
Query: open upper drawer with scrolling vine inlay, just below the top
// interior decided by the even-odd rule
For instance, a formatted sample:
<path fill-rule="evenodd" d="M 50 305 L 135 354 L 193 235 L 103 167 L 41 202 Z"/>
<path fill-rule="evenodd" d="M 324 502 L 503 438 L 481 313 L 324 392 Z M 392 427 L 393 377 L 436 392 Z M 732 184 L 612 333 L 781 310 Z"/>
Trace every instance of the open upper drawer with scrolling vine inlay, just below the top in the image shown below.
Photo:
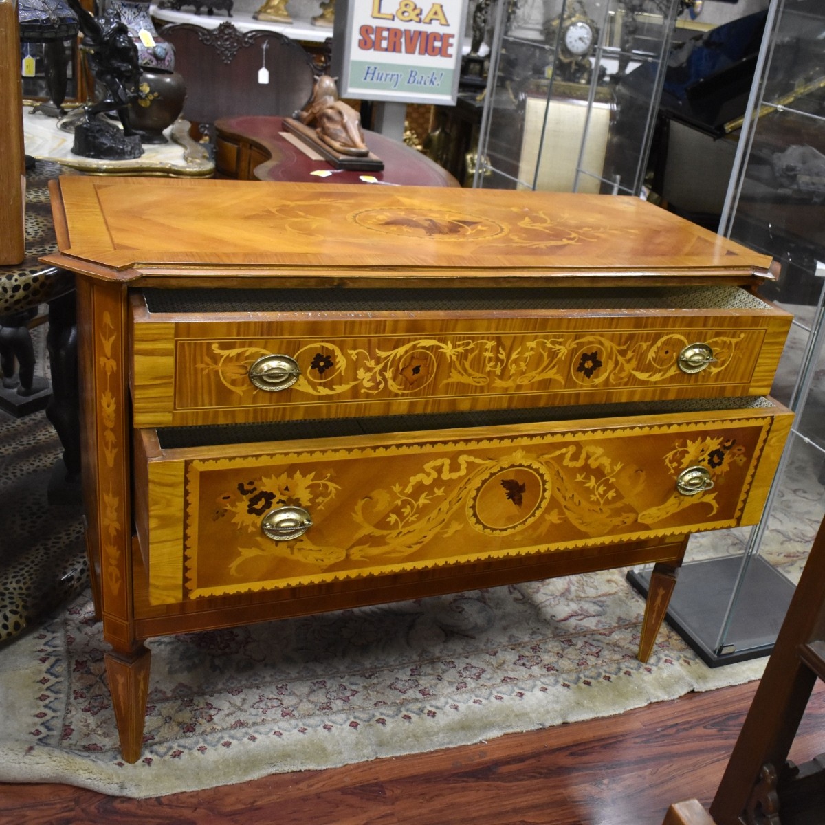
<path fill-rule="evenodd" d="M 132 314 L 137 427 L 766 394 L 791 319 L 729 285 L 143 290 Z"/>

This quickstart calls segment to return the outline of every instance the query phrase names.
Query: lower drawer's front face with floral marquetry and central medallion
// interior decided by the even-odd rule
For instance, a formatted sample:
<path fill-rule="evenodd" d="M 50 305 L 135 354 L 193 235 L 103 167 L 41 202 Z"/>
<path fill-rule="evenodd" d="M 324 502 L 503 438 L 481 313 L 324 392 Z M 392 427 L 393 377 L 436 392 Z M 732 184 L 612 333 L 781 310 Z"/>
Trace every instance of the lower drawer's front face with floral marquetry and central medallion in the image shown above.
<path fill-rule="evenodd" d="M 246 455 L 223 458 L 176 460 L 172 450 L 180 498 L 153 503 L 150 469 L 148 506 L 168 512 L 173 530 L 182 518 L 186 540 L 182 559 L 179 546 L 165 558 L 150 544 L 151 596 L 180 597 L 181 582 L 160 584 L 168 569 L 185 568 L 192 598 L 737 526 L 774 426 L 761 414 L 418 433 L 389 446 L 358 436 L 346 448 L 290 442 L 254 455 L 245 445 Z M 680 489 L 697 469 L 706 486 Z M 266 535 L 264 521 L 279 511 L 293 520 L 303 512 L 308 529 Z"/>

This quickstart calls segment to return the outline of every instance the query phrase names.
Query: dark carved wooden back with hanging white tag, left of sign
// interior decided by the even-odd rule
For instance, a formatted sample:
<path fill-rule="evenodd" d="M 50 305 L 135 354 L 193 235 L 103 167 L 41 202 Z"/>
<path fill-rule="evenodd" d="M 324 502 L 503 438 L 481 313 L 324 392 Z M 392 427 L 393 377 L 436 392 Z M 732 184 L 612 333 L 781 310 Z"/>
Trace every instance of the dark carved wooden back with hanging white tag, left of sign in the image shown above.
<path fill-rule="evenodd" d="M 192 123 L 291 116 L 312 96 L 318 70 L 312 55 L 276 31 L 242 33 L 223 22 L 216 29 L 172 23 L 158 33 L 175 47 L 175 68 L 186 81 L 181 116 Z"/>

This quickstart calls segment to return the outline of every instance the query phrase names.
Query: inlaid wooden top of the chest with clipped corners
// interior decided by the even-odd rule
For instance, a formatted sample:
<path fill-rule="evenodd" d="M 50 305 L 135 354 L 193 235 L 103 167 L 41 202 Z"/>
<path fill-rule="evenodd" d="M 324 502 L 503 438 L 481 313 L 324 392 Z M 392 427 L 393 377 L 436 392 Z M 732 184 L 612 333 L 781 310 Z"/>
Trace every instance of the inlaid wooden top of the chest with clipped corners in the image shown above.
<path fill-rule="evenodd" d="M 52 262 L 125 281 L 386 278 L 388 267 L 401 279 L 730 278 L 771 265 L 627 196 L 128 177 L 63 177 L 52 196 L 63 253 Z"/>

